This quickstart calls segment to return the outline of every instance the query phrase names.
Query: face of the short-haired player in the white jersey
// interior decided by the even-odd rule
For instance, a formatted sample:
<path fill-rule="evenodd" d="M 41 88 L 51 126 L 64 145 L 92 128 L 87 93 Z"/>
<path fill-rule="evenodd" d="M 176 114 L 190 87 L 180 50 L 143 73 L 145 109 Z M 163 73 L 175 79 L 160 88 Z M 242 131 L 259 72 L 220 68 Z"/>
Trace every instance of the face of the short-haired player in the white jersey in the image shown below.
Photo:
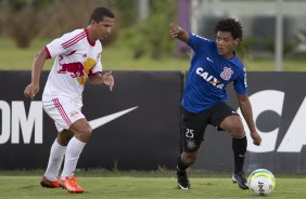
<path fill-rule="evenodd" d="M 102 22 L 95 23 L 95 35 L 101 41 L 109 37 L 112 32 L 112 28 L 115 24 L 115 18 L 104 17 Z"/>

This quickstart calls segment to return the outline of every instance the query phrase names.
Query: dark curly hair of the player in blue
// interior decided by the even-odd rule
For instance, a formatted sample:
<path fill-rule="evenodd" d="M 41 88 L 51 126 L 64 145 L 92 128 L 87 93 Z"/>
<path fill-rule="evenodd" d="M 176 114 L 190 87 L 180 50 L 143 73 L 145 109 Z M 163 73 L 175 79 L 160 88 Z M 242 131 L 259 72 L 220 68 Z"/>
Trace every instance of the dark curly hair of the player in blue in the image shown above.
<path fill-rule="evenodd" d="M 215 26 L 215 31 L 231 32 L 233 39 L 242 41 L 242 26 L 241 23 L 234 18 L 222 18 Z"/>

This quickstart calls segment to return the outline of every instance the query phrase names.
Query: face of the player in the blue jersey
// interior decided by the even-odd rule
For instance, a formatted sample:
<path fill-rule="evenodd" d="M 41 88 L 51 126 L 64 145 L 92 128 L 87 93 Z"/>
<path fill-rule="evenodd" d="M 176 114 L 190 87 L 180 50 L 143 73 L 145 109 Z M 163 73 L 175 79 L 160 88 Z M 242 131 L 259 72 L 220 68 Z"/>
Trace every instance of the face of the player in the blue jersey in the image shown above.
<path fill-rule="evenodd" d="M 225 58 L 231 58 L 234 48 L 239 44 L 239 39 L 233 39 L 231 32 L 218 31 L 216 43 L 219 54 Z"/>

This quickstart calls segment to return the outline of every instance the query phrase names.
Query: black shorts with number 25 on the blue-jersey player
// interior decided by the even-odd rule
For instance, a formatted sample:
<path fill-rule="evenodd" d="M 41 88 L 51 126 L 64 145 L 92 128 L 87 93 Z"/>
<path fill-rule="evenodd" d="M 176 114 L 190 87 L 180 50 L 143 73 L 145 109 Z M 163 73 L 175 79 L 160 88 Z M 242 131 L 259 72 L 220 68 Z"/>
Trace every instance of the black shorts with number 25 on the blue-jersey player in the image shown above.
<path fill-rule="evenodd" d="M 181 142 L 184 151 L 197 150 L 207 124 L 219 128 L 221 121 L 228 116 L 238 115 L 237 111 L 226 103 L 219 103 L 201 112 L 190 112 L 182 108 Z"/>

